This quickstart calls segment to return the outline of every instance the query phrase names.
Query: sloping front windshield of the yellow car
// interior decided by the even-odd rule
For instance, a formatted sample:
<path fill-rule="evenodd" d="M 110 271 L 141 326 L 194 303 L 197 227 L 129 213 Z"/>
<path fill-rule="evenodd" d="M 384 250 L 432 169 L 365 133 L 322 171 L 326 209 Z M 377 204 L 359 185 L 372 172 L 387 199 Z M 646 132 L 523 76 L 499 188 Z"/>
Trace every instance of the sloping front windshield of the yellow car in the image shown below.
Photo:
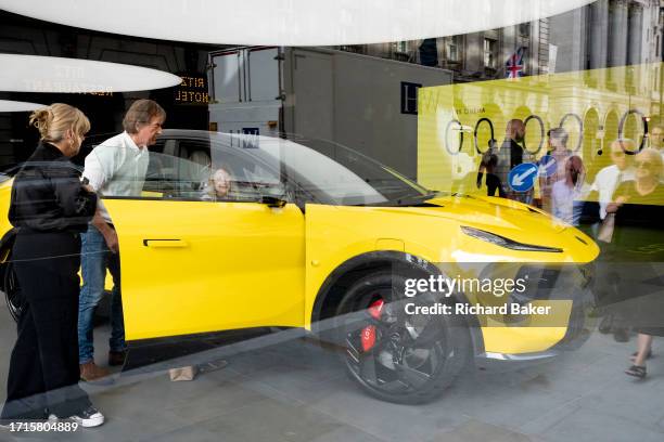
<path fill-rule="evenodd" d="M 265 165 L 279 170 L 281 180 L 324 204 L 344 206 L 417 205 L 433 196 L 426 188 L 348 147 L 322 140 L 283 140 L 256 135 L 210 134 L 213 164 L 215 151 L 232 146 L 255 158 L 254 169 L 244 170 L 244 180 L 258 177 L 276 180 Z"/>

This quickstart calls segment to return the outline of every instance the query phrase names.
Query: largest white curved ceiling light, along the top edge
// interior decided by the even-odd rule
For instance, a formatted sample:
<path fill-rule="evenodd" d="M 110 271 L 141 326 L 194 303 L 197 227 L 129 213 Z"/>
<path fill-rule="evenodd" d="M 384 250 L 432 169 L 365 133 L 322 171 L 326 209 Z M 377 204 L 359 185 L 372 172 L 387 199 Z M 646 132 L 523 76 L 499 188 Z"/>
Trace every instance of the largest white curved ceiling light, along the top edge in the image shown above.
<path fill-rule="evenodd" d="M 495 29 L 595 0 L 0 0 L 0 9 L 106 32 L 214 44 L 335 46 Z"/>

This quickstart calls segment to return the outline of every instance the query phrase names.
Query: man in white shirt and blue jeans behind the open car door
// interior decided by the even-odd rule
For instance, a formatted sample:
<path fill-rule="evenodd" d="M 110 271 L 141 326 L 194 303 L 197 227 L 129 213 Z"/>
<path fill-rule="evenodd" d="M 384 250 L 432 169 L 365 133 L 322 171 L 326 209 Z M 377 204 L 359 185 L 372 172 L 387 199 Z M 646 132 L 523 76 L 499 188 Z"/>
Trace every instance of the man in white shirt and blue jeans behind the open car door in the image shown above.
<path fill-rule="evenodd" d="M 156 143 L 162 133 L 166 113 L 152 100 L 138 100 L 123 120 L 125 131 L 99 146 L 86 157 L 84 177 L 90 186 L 104 196 L 140 196 L 148 170 L 148 146 Z M 113 276 L 111 298 L 111 339 L 108 365 L 125 362 L 125 325 L 119 290 L 119 248 L 117 233 L 103 203 L 82 234 L 81 276 L 78 306 L 78 363 L 80 378 L 86 381 L 102 379 L 108 370 L 94 363 L 92 337 L 94 308 L 104 292 L 106 269 Z"/>

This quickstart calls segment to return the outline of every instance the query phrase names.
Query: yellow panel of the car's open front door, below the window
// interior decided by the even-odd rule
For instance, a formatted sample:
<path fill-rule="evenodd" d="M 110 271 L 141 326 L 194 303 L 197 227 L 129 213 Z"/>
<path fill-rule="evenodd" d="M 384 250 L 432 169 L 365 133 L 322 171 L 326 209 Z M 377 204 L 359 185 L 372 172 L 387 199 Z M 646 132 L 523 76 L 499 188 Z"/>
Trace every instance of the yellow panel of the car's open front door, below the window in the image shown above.
<path fill-rule="evenodd" d="M 296 206 L 104 204 L 120 244 L 128 340 L 302 326 L 305 232 Z"/>

